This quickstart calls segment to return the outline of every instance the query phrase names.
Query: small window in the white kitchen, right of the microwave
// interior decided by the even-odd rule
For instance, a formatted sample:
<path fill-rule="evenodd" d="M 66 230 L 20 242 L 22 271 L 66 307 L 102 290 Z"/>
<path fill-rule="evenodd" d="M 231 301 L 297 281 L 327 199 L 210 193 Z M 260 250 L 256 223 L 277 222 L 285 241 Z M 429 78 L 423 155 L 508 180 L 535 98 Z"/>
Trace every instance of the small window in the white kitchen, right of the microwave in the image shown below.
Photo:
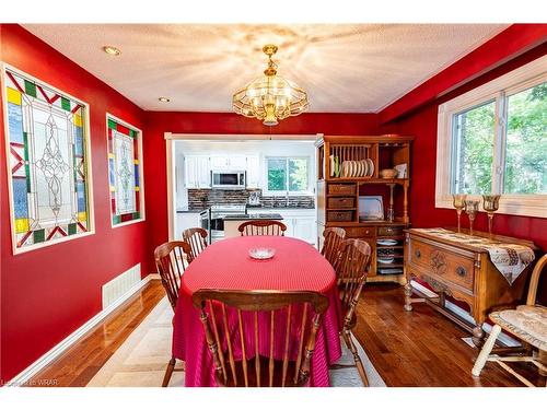
<path fill-rule="evenodd" d="M 267 157 L 267 194 L 310 194 L 309 167 L 310 159 L 305 156 Z"/>

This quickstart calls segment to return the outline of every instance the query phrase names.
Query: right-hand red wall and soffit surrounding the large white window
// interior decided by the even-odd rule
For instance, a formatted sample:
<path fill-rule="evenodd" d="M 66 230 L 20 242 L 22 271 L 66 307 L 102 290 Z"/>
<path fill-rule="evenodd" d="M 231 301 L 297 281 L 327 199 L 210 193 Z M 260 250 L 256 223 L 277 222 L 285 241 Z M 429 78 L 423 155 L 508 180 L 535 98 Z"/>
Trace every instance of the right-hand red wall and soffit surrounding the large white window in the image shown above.
<path fill-rule="evenodd" d="M 439 105 L 545 56 L 546 38 L 546 24 L 514 24 L 380 113 L 382 132 L 416 136 L 410 194 L 412 225 L 454 226 L 456 221 L 454 210 L 435 208 Z M 486 214 L 477 218 L 476 229 L 487 230 Z M 494 232 L 534 241 L 543 251 L 547 250 L 545 218 L 498 214 Z"/>

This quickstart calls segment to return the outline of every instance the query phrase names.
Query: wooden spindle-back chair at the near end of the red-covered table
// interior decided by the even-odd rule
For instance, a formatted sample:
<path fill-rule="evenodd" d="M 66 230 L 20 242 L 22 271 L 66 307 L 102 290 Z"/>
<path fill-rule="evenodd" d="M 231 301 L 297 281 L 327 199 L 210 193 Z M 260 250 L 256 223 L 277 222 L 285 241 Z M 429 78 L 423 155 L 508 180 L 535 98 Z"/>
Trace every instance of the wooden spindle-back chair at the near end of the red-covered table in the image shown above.
<path fill-rule="evenodd" d="M 309 382 L 315 339 L 328 307 L 328 297 L 306 291 L 201 289 L 194 293 L 193 302 L 200 309 L 220 386 L 298 387 Z M 309 306 L 313 314 L 309 313 Z M 236 315 L 236 326 L 228 319 L 229 309 Z M 259 326 L 263 320 L 269 324 L 269 328 Z M 291 330 L 294 328 L 299 330 Z M 278 340 L 283 341 L 283 354 L 279 360 L 275 353 L 275 339 L 281 335 L 282 339 Z M 248 341 L 254 344 L 252 352 L 248 351 Z M 260 354 L 259 343 L 263 343 L 261 351 L 268 352 L 266 355 Z M 242 352 L 241 358 L 234 353 L 236 348 Z M 298 356 L 294 361 L 289 358 L 289 352 L 295 349 Z M 247 360 L 249 355 L 254 359 Z"/>

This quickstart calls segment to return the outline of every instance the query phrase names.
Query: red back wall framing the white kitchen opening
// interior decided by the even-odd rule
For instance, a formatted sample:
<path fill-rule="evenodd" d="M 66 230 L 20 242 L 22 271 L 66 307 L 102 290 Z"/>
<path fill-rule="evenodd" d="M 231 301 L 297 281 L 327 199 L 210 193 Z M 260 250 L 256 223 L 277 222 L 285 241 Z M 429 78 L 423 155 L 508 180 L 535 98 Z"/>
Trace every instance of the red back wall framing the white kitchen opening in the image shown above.
<path fill-rule="evenodd" d="M 310 113 L 283 119 L 276 127 L 263 126 L 256 119 L 233 113 L 148 113 L 144 139 L 144 184 L 147 186 L 150 251 L 149 268 L 155 271 L 152 251 L 167 241 L 167 179 L 165 168 L 165 132 L 242 133 L 242 134 L 346 134 L 377 133 L 376 114 Z M 279 143 L 282 143 L 281 141 Z"/>

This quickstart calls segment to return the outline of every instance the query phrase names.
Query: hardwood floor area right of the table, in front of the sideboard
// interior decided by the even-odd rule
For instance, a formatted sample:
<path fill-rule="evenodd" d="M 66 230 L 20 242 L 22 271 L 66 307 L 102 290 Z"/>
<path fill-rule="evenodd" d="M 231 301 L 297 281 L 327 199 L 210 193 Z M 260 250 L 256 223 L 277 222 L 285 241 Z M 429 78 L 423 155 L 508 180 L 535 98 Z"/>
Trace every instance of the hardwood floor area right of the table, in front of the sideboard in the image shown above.
<path fill-rule="evenodd" d="M 494 363 L 473 377 L 479 351 L 462 340 L 470 335 L 426 304 L 412 304 L 412 312 L 403 305 L 403 288 L 381 283 L 365 285 L 358 305 L 353 333 L 387 386 L 523 386 Z M 533 365 L 515 368 L 545 386 Z"/>

